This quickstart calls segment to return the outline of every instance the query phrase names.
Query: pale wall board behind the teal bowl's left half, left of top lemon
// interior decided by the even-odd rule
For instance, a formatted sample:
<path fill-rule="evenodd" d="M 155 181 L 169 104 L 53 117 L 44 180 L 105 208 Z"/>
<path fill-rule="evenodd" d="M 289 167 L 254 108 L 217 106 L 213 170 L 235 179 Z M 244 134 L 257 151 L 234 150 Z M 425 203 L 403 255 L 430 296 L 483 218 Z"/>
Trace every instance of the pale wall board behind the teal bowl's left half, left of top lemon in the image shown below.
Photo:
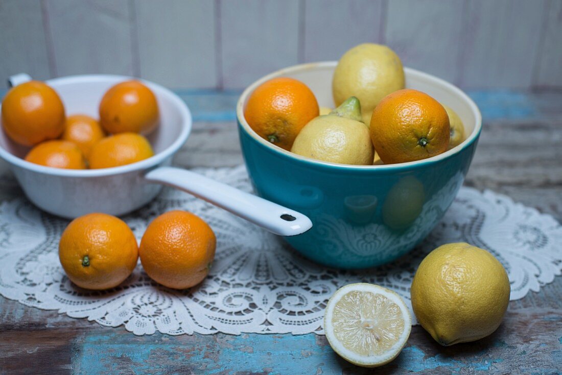
<path fill-rule="evenodd" d="M 224 0 L 220 6 L 224 88 L 244 88 L 298 63 L 297 0 Z"/>

